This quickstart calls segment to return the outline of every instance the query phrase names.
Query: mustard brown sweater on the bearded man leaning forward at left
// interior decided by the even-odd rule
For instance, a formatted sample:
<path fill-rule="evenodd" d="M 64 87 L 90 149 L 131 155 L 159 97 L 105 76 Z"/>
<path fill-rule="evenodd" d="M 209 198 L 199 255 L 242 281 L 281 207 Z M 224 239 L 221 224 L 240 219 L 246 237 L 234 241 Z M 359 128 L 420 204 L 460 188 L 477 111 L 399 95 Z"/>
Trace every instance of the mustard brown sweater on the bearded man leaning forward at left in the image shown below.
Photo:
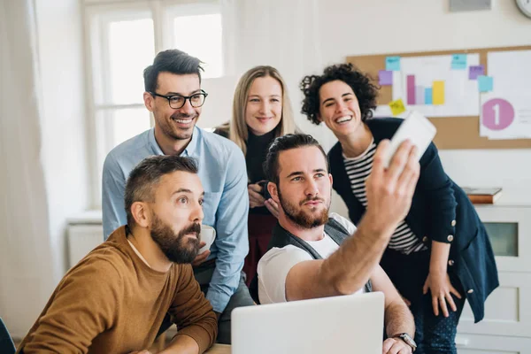
<path fill-rule="evenodd" d="M 20 343 L 24 353 L 129 353 L 148 349 L 166 312 L 178 335 L 199 352 L 211 347 L 218 323 L 190 265 L 154 271 L 119 227 L 74 266 Z"/>

